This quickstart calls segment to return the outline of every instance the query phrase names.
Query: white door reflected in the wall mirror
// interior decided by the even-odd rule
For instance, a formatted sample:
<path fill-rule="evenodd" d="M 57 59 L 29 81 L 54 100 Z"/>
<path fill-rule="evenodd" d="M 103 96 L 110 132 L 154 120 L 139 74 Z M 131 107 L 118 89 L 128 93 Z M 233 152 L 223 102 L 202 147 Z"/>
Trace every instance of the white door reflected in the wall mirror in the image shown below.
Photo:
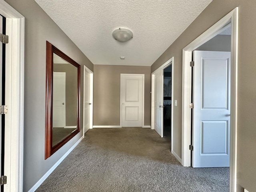
<path fill-rule="evenodd" d="M 53 72 L 52 127 L 66 126 L 66 73 Z"/>

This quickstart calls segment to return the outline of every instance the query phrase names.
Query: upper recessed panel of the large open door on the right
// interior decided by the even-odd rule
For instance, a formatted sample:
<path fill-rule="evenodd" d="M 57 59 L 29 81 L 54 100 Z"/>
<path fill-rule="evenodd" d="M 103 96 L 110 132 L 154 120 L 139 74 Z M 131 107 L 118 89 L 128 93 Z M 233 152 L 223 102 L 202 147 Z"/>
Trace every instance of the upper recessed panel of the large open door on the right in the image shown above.
<path fill-rule="evenodd" d="M 228 107 L 229 58 L 202 58 L 202 108 Z"/>

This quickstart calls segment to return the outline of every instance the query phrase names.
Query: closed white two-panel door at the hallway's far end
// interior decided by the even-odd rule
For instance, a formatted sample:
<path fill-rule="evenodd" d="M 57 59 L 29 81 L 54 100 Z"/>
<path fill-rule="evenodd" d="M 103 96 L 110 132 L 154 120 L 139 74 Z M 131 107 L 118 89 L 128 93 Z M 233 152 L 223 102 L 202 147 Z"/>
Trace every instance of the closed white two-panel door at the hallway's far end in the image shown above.
<path fill-rule="evenodd" d="M 144 74 L 121 74 L 122 127 L 142 126 Z"/>

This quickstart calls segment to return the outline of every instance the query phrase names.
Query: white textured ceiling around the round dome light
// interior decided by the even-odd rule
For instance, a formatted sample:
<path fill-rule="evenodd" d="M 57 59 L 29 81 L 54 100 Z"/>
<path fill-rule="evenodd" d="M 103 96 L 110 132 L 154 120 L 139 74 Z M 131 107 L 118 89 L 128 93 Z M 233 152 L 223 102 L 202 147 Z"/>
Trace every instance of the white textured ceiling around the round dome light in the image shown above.
<path fill-rule="evenodd" d="M 93 64 L 151 66 L 212 0 L 35 1 Z M 116 41 L 116 28 L 133 38 Z"/>

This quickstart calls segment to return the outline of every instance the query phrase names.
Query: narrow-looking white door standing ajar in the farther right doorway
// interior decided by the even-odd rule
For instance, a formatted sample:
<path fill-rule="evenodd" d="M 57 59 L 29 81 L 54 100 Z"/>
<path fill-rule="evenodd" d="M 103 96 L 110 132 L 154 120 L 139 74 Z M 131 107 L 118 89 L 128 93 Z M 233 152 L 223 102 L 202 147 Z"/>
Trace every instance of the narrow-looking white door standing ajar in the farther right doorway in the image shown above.
<path fill-rule="evenodd" d="M 154 129 L 156 132 L 163 137 L 164 135 L 164 129 L 163 129 L 163 70 L 160 70 L 159 72 L 156 72 L 154 75 Z"/>

